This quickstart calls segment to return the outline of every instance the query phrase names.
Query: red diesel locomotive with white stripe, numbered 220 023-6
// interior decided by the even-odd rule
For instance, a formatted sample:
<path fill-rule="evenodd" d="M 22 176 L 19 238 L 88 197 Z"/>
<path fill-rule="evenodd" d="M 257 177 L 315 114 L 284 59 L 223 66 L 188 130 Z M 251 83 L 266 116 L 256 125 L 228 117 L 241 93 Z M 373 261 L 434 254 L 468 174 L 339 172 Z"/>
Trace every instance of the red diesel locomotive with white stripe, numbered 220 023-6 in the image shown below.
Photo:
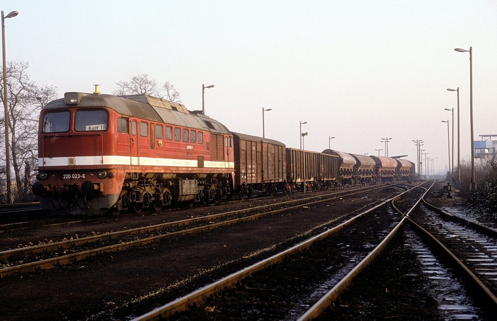
<path fill-rule="evenodd" d="M 147 95 L 68 92 L 40 114 L 43 208 L 100 214 L 218 202 L 233 190 L 233 138 L 219 122 Z"/>

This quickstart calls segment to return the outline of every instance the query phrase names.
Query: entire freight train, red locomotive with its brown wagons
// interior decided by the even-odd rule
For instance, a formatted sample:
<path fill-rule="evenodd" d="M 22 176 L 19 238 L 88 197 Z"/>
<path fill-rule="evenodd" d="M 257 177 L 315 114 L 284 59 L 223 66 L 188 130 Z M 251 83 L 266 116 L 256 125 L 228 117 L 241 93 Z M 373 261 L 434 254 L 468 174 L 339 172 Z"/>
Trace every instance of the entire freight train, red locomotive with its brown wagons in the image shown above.
<path fill-rule="evenodd" d="M 117 214 L 413 176 L 408 160 L 287 148 L 149 95 L 66 92 L 40 113 L 32 191 L 52 213 Z"/>

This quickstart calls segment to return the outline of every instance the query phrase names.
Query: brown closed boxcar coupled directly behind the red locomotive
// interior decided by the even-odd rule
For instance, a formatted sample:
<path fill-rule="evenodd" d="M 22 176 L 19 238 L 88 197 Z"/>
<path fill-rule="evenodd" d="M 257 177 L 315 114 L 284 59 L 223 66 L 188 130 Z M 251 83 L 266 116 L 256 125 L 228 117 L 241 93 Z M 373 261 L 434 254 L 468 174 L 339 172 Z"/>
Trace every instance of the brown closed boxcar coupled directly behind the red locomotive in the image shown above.
<path fill-rule="evenodd" d="M 254 192 L 273 195 L 285 188 L 285 144 L 257 136 L 233 134 L 235 189 L 244 199 Z"/>

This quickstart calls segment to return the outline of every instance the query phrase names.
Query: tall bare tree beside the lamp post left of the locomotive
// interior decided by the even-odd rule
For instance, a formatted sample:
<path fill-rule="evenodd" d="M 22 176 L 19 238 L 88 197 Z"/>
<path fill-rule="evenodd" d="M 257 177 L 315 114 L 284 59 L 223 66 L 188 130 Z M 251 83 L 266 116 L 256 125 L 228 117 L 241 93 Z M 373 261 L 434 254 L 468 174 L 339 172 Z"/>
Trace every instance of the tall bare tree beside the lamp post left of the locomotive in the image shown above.
<path fill-rule="evenodd" d="M 57 87 L 36 85 L 26 73 L 28 67 L 26 62 L 15 61 L 9 62 L 6 68 L 10 166 L 14 169 L 17 200 L 26 196 L 34 175 L 32 170 L 38 167 L 38 115 L 43 105 L 55 99 L 57 94 Z M 3 75 L 0 82 L 3 103 Z M 0 118 L 0 123 L 3 128 L 5 119 Z M 2 134 L 5 139 L 5 133 Z M 4 148 L 5 144 L 1 145 Z"/>

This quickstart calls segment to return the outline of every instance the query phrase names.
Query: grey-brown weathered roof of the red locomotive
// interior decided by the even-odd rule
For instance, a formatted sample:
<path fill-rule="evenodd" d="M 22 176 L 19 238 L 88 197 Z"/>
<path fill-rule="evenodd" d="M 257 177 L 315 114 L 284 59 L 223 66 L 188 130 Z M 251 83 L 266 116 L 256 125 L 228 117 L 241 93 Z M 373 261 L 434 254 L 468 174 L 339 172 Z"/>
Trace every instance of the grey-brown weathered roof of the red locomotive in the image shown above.
<path fill-rule="evenodd" d="M 182 104 L 149 95 L 114 96 L 109 94 L 66 93 L 65 96 L 67 94 L 77 94 L 78 102 L 67 104 L 66 98 L 61 98 L 49 102 L 43 109 L 108 107 L 126 116 L 214 133 L 229 133 L 226 126 L 217 120 L 203 114 L 190 114 Z"/>

